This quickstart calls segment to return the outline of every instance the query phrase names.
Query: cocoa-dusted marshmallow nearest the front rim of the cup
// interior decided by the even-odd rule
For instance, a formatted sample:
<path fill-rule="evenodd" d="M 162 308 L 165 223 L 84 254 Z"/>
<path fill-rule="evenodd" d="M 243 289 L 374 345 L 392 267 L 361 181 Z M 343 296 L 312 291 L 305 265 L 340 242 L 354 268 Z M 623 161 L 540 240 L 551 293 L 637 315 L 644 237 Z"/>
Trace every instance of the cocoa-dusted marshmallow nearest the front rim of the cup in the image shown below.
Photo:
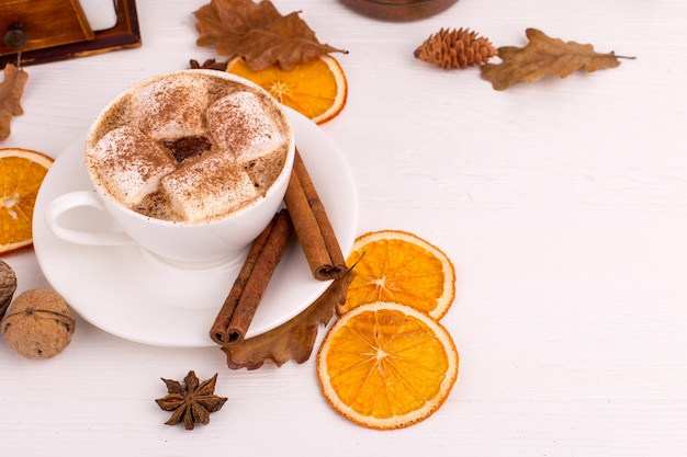
<path fill-rule="evenodd" d="M 224 151 L 213 151 L 162 178 L 172 210 L 199 222 L 239 209 L 257 198 L 255 184 Z"/>

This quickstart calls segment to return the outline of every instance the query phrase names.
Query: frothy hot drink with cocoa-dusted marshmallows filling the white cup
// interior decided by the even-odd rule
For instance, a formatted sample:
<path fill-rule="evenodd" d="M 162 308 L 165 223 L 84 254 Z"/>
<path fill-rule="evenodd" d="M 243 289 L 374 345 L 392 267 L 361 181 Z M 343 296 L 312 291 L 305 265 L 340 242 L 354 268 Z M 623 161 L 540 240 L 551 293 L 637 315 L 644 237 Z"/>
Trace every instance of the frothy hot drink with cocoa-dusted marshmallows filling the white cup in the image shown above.
<path fill-rule="evenodd" d="M 264 196 L 284 168 L 289 128 L 269 94 L 212 72 L 181 72 L 119 98 L 88 138 L 86 163 L 137 213 L 206 222 Z"/>

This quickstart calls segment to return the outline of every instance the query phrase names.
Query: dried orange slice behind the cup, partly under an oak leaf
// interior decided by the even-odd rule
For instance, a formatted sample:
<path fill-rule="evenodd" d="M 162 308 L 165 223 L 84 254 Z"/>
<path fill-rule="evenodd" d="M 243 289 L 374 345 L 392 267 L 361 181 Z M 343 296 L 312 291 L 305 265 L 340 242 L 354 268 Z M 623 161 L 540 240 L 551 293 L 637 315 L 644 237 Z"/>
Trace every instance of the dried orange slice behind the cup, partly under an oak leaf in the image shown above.
<path fill-rule="evenodd" d="M 327 55 L 292 70 L 282 70 L 279 66 L 251 70 L 243 58 L 235 57 L 227 64 L 227 71 L 257 83 L 280 103 L 317 124 L 339 114 L 348 96 L 344 70 L 334 57 Z"/>

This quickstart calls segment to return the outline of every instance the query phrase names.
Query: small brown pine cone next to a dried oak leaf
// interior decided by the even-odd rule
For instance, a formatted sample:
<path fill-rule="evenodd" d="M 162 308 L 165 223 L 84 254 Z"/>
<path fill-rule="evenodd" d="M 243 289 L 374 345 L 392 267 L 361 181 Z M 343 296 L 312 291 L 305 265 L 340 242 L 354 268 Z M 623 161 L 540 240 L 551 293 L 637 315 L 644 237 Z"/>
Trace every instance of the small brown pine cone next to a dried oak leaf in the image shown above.
<path fill-rule="evenodd" d="M 461 27 L 453 31 L 441 28 L 415 49 L 414 56 L 449 70 L 482 66 L 497 54 L 487 38 L 478 37 L 476 32 Z"/>

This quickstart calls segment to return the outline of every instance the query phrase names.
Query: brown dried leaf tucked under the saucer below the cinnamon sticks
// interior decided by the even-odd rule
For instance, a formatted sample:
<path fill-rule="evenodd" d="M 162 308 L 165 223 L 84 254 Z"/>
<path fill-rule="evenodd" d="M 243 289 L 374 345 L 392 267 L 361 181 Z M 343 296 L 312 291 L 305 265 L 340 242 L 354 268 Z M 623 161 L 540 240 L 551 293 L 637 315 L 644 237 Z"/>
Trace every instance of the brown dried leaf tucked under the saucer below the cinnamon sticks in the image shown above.
<path fill-rule="evenodd" d="M 280 327 L 237 344 L 223 345 L 227 366 L 232 369 L 257 369 L 268 359 L 277 366 L 282 366 L 290 359 L 299 364 L 307 361 L 315 345 L 317 328 L 320 323 L 327 324 L 336 307 L 346 301 L 346 293 L 354 275 L 352 269 L 348 270 L 305 311 Z"/>

